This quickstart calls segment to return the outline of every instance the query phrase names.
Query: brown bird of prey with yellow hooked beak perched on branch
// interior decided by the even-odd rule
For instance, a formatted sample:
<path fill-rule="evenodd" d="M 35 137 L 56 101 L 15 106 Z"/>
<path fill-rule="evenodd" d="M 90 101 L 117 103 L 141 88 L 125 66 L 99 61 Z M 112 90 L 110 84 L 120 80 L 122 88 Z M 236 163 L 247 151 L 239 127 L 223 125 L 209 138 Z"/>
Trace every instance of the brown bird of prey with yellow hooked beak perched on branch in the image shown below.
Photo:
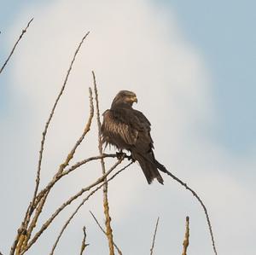
<path fill-rule="evenodd" d="M 131 158 L 138 161 L 148 184 L 154 178 L 163 184 L 158 169 L 166 172 L 166 167 L 154 158 L 150 122 L 143 113 L 132 108 L 134 102 L 137 102 L 137 96 L 128 90 L 121 90 L 114 97 L 111 108 L 103 113 L 102 142 L 106 146 L 113 145 L 120 152 L 123 149 L 130 151 Z"/>

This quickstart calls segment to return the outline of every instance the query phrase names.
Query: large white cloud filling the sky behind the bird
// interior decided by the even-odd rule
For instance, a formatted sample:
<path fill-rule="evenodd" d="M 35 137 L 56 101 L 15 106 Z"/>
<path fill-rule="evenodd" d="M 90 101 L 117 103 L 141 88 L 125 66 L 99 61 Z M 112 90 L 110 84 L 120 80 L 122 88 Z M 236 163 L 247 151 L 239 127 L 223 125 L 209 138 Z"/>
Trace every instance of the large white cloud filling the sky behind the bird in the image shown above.
<path fill-rule="evenodd" d="M 201 55 L 186 42 L 174 14 L 157 9 L 144 0 L 86 3 L 55 1 L 40 8 L 35 6 L 29 12 L 32 11 L 35 20 L 26 34 L 26 41 L 20 43 L 19 54 L 13 59 L 13 92 L 17 95 L 21 93 L 22 100 L 26 101 L 28 113 L 23 113 L 25 123 L 22 126 L 29 126 L 27 131 L 22 130 L 22 137 L 15 136 L 15 142 L 18 143 L 16 148 L 9 148 L 10 153 L 14 150 L 14 153 L 18 154 L 26 147 L 26 152 L 22 153 L 24 165 L 14 162 L 14 167 L 19 166 L 23 172 L 29 167 L 28 177 L 33 177 L 32 169 L 36 165 L 39 135 L 49 114 L 49 108 L 61 88 L 79 40 L 85 32 L 90 31 L 90 36 L 73 66 L 67 90 L 49 129 L 42 178 L 46 180 L 52 176 L 54 169 L 61 159 L 64 159 L 83 129 L 88 116 L 88 86 L 92 84 L 90 72 L 93 69 L 96 71 L 102 110 L 110 106 L 113 96 L 119 90 L 136 91 L 139 101 L 136 107 L 148 116 L 153 125 L 157 158 L 177 176 L 188 181 L 199 194 L 203 194 L 206 204 L 211 205 L 209 211 L 213 215 L 212 221 L 218 227 L 220 223 L 225 223 L 227 215 L 231 212 L 239 221 L 244 211 L 236 208 L 234 212 L 235 198 L 240 196 L 242 200 L 243 195 L 247 195 L 247 189 L 242 187 L 242 183 L 235 177 L 222 173 L 225 166 L 234 167 L 236 161 L 228 157 L 223 149 L 209 142 L 206 135 L 196 131 L 202 129 L 201 125 L 214 124 L 216 119 L 209 100 L 210 79 Z M 24 20 L 27 15 L 22 14 L 20 20 Z M 17 20 L 15 26 L 20 25 L 20 20 Z M 90 136 L 85 138 L 76 159 L 96 154 L 96 126 L 93 128 Z M 24 145 L 27 139 L 28 142 Z M 18 159 L 20 158 L 21 156 L 18 156 Z M 85 168 L 70 180 L 64 181 L 64 190 L 61 185 L 55 189 L 55 196 L 49 201 L 51 210 L 60 204 L 67 194 L 73 194 L 82 187 L 87 178 L 96 178 L 100 173 L 95 172 L 95 165 L 86 170 L 88 174 L 84 171 Z M 12 177 L 12 174 L 9 174 L 9 177 Z M 162 234 L 159 237 L 160 254 L 166 254 L 169 250 L 173 253 L 180 252 L 183 216 L 187 213 L 193 216 L 191 221 L 195 226 L 191 234 L 191 254 L 210 253 L 211 243 L 200 206 L 190 194 L 182 192 L 183 189 L 174 185 L 167 177 L 165 179 L 164 187 L 158 183 L 147 186 L 142 171 L 138 165 L 134 165 L 110 185 L 114 233 L 124 247 L 124 253 L 134 254 L 134 250 L 131 251 L 128 246 L 133 235 L 137 237 L 132 241 L 133 248 L 140 243 L 150 244 L 152 220 L 154 221 L 154 216 L 157 215 L 163 217 L 160 230 Z M 24 183 L 30 186 L 32 181 L 25 179 Z M 229 205 L 225 204 L 223 194 L 229 198 Z M 20 204 L 21 202 L 23 205 L 26 200 L 20 201 Z M 96 199 L 90 202 L 90 207 L 84 207 L 83 213 L 93 208 L 102 219 L 101 203 L 101 194 L 98 194 Z M 244 203 L 242 205 L 246 206 Z M 16 207 L 14 211 L 17 210 Z M 220 211 L 228 213 L 223 215 Z M 94 225 L 87 216 L 88 214 L 86 218 L 79 217 L 76 220 L 77 229 L 73 229 L 74 235 L 67 234 L 72 237 L 70 244 L 75 244 L 79 238 L 84 222 L 90 226 L 89 235 L 97 235 L 95 240 L 102 238 L 101 234 L 94 232 Z M 131 223 L 136 225 L 132 226 Z M 57 223 L 58 228 L 60 225 L 60 222 Z M 166 227 L 167 225 L 172 228 Z M 150 228 L 145 230 L 146 226 Z M 136 234 L 133 233 L 134 228 L 137 228 Z M 253 228 L 255 229 L 255 226 Z M 230 246 L 226 247 L 227 241 L 223 239 L 227 238 L 229 229 L 214 230 L 219 246 L 223 251 L 230 251 Z M 141 240 L 142 237 L 137 235 L 143 235 L 145 231 L 148 239 Z M 151 231 L 150 235 L 148 231 Z M 201 238 L 193 239 L 193 235 L 200 235 Z M 38 249 L 48 252 L 45 247 L 49 247 L 54 236 L 50 233 L 49 238 L 43 238 L 38 244 Z M 63 243 L 65 238 L 64 236 Z M 93 238 L 90 240 L 91 253 L 101 253 L 107 247 L 104 242 L 104 247 L 99 247 Z M 170 246 L 170 241 L 173 246 Z M 75 245 L 68 248 L 64 246 L 60 246 L 60 254 L 76 251 Z M 137 251 L 142 253 L 145 247 L 138 247 Z M 220 252 L 225 253 L 223 251 Z M 240 253 L 233 251 L 232 254 Z"/>

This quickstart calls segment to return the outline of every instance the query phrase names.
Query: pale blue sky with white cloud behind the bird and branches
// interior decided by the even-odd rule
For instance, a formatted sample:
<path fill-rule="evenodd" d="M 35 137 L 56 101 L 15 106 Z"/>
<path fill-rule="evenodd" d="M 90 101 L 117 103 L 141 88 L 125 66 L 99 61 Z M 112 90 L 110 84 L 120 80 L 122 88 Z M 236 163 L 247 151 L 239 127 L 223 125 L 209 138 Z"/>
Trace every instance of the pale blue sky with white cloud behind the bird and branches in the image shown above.
<path fill-rule="evenodd" d="M 41 187 L 83 130 L 94 70 L 102 112 L 119 90 L 137 93 L 135 107 L 152 124 L 156 158 L 200 194 L 218 253 L 255 253 L 254 9 L 253 1 L 1 2 L 0 63 L 28 20 L 34 20 L 0 75 L 0 251 L 9 252 L 32 197 L 44 123 L 74 50 L 90 31 L 49 126 Z M 98 154 L 96 135 L 94 122 L 73 163 Z M 38 225 L 101 175 L 97 163 L 57 185 Z M 107 161 L 108 166 L 111 163 Z M 178 254 L 189 215 L 189 254 L 213 254 L 201 206 L 170 177 L 164 179 L 164 186 L 148 185 L 134 164 L 113 180 L 109 203 L 114 240 L 124 254 L 149 253 L 159 216 L 155 254 Z M 27 254 L 49 253 L 75 206 L 69 206 Z M 78 253 L 84 225 L 87 252 L 108 253 L 108 243 L 89 210 L 104 223 L 101 192 L 83 206 L 55 254 Z"/>

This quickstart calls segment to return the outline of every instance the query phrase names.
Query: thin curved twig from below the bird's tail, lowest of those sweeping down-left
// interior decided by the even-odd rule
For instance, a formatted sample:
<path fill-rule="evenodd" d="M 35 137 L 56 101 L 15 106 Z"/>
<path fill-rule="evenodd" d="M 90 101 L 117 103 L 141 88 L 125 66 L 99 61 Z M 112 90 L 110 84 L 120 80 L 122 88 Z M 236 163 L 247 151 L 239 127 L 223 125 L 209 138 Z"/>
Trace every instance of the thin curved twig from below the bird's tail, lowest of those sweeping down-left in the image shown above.
<path fill-rule="evenodd" d="M 108 179 L 108 182 L 110 182 L 114 177 L 116 177 L 121 171 L 124 171 L 125 168 L 127 168 L 128 166 L 130 166 L 132 164 L 132 162 L 128 165 L 125 165 L 125 167 L 123 167 L 121 170 L 117 171 L 113 177 L 110 177 Z M 76 208 L 76 210 L 73 212 L 73 214 L 67 219 L 67 222 L 63 225 L 60 234 L 58 235 L 55 244 L 53 245 L 51 252 L 49 253 L 49 255 L 53 255 L 55 252 L 55 248 L 57 246 L 57 244 L 59 243 L 60 239 L 61 239 L 61 235 L 63 234 L 63 232 L 65 231 L 65 229 L 67 229 L 67 225 L 71 222 L 71 220 L 73 219 L 73 217 L 79 212 L 79 209 L 84 205 L 85 201 L 87 201 L 91 195 L 95 194 L 97 190 L 99 190 L 100 188 L 102 188 L 102 186 L 104 185 L 104 183 L 102 183 L 101 185 L 97 186 L 93 191 L 90 192 L 90 194 L 88 194 L 84 200 L 82 200 L 82 202 L 79 204 L 79 206 Z"/>

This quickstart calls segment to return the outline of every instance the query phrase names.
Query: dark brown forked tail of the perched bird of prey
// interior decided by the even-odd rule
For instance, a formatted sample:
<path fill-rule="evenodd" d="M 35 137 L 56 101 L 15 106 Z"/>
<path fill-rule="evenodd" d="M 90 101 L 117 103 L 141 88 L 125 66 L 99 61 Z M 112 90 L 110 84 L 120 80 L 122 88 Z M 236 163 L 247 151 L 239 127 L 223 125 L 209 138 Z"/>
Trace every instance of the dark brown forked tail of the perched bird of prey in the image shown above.
<path fill-rule="evenodd" d="M 154 178 L 156 178 L 159 183 L 164 184 L 164 180 L 160 176 L 160 172 L 157 170 L 159 168 L 158 165 L 160 166 L 160 168 L 162 168 L 163 165 L 160 165 L 160 163 L 154 159 L 154 154 L 152 157 L 151 154 L 147 154 L 146 156 L 144 156 L 142 154 L 133 153 L 132 157 L 133 159 L 137 160 L 139 165 L 141 166 L 143 173 L 148 181 L 148 184 L 152 183 Z"/>

